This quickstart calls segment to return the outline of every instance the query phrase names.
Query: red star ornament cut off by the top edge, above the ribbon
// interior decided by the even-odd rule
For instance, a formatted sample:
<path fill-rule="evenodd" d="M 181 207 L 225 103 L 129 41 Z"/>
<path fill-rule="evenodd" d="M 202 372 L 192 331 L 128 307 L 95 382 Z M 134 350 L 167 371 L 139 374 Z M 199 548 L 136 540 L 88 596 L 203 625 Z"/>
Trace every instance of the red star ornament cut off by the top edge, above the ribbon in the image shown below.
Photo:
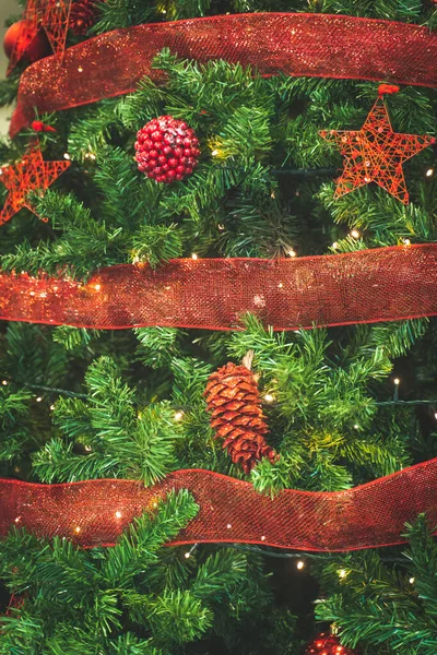
<path fill-rule="evenodd" d="M 8 67 L 8 74 L 24 56 L 29 43 L 44 28 L 55 55 L 66 49 L 71 0 L 27 0 L 21 21 L 21 31 L 15 41 Z"/>

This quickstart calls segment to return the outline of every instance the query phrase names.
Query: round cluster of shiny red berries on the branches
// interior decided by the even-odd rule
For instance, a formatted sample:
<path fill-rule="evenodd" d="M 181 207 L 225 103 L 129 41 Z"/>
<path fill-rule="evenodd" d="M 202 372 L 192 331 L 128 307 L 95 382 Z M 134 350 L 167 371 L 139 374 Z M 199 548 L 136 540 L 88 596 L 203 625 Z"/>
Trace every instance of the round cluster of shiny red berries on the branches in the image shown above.
<path fill-rule="evenodd" d="M 137 164 L 157 182 L 182 180 L 198 165 L 198 145 L 199 139 L 186 122 L 173 116 L 160 116 L 137 133 Z"/>

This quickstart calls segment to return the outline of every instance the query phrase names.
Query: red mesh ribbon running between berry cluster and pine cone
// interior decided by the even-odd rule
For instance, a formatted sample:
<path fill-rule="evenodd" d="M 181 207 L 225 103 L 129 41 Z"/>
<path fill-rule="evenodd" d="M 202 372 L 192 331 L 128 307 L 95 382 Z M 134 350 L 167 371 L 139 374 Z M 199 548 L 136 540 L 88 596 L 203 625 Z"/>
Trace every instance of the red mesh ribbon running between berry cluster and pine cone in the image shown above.
<path fill-rule="evenodd" d="M 0 274 L 0 319 L 78 327 L 274 330 L 437 314 L 437 243 L 295 259 L 178 259 L 109 266 L 87 284 Z"/>

